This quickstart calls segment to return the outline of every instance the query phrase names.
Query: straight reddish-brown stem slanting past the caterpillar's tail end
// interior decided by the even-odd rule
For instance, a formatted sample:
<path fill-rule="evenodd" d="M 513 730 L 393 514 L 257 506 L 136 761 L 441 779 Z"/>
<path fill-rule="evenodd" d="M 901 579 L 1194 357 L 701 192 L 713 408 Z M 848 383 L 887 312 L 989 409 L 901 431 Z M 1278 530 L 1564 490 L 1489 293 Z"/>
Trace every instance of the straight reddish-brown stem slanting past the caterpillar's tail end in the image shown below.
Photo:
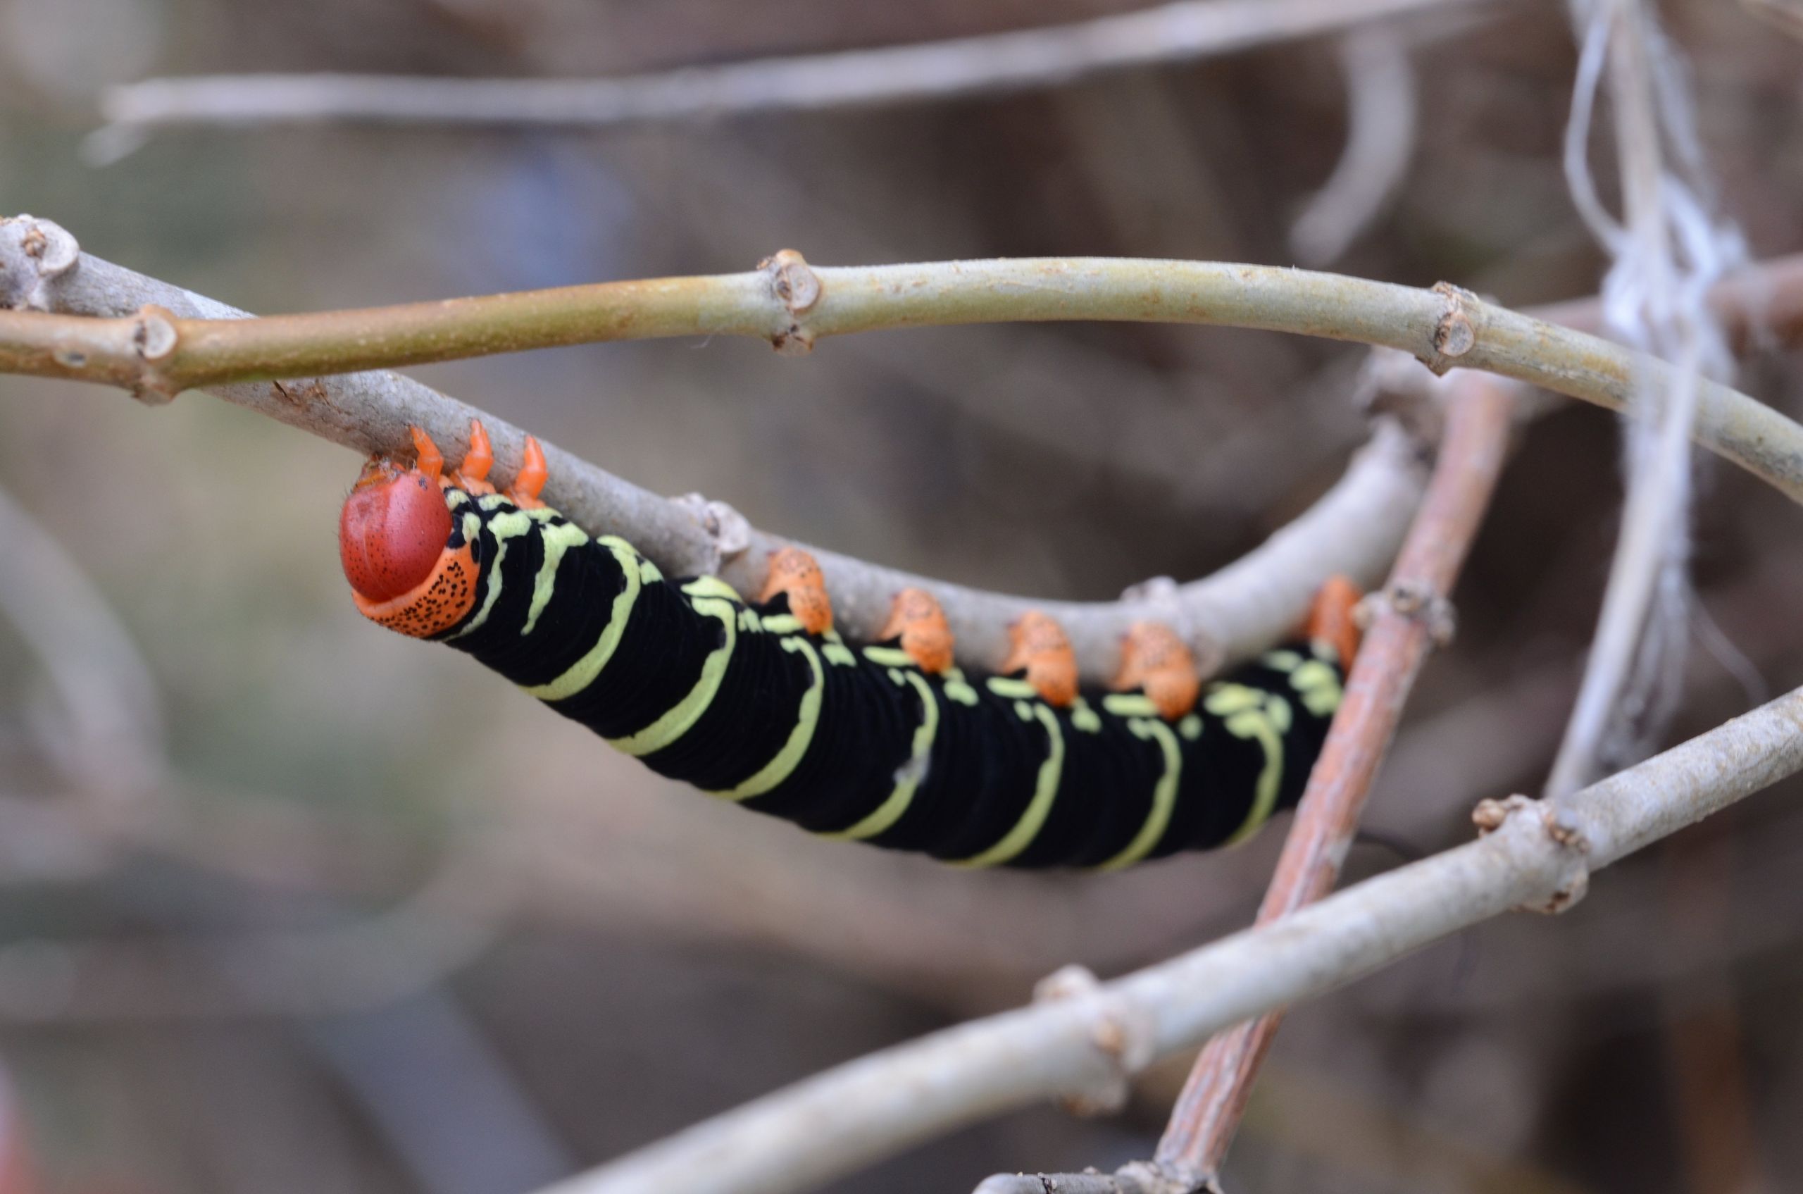
<path fill-rule="evenodd" d="M 1448 628 L 1446 595 L 1495 492 L 1515 406 L 1513 386 L 1493 377 L 1460 373 L 1450 384 L 1446 438 L 1433 480 L 1390 584 L 1374 602 L 1376 617 L 1284 840 L 1258 923 L 1332 891 L 1403 702 L 1435 637 Z M 1203 1046 L 1156 1154 L 1156 1167 L 1177 1187 L 1206 1189 L 1213 1181 L 1278 1023 L 1282 1014 L 1273 1012 Z"/>

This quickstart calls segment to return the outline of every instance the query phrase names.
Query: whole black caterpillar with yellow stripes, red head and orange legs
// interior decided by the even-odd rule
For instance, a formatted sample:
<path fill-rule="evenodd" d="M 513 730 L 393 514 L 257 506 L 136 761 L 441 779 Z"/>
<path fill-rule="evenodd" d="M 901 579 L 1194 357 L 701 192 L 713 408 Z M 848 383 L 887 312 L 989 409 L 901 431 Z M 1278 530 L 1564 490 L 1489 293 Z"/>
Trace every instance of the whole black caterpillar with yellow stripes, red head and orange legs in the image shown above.
<path fill-rule="evenodd" d="M 847 642 L 806 552 L 775 552 L 755 602 L 665 579 L 539 501 L 537 440 L 498 492 L 480 422 L 469 438 L 456 471 L 416 427 L 411 464 L 364 465 L 339 519 L 357 608 L 664 776 L 824 837 L 1094 869 L 1239 842 L 1300 799 L 1356 649 L 1358 592 L 1334 581 L 1309 637 L 1206 685 L 1176 631 L 1139 622 L 1114 685 L 1084 687 L 1044 613 L 1010 628 L 995 675 L 966 673 L 923 590 L 896 595 L 874 642 Z"/>

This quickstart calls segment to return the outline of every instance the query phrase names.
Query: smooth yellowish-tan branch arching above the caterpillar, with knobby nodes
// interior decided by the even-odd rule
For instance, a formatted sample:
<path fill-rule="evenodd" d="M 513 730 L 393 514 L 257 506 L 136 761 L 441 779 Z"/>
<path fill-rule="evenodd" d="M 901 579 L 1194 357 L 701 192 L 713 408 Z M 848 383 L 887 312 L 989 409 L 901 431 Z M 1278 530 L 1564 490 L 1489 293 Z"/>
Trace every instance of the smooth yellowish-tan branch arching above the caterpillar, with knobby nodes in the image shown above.
<path fill-rule="evenodd" d="M 106 269 L 117 281 L 121 271 Z M 72 283 L 61 289 L 83 289 L 85 272 L 67 271 Z M 117 298 L 142 292 L 144 281 L 59 310 L 115 312 Z M 1269 265 L 1134 258 L 811 269 L 792 251 L 748 274 L 265 319 L 189 317 L 159 307 L 96 321 L 0 312 L 0 370 L 173 395 L 191 386 L 593 341 L 755 335 L 781 352 L 799 352 L 826 335 L 876 328 L 1066 319 L 1224 325 L 1381 344 L 1435 372 L 1486 370 L 1610 409 L 1634 408 L 1643 381 L 1662 386 L 1673 377 L 1662 361 L 1484 303 L 1448 283 L 1423 290 Z M 1698 444 L 1803 500 L 1803 427 L 1716 382 L 1700 382 L 1697 400 Z M 370 431 L 364 438 L 371 447 L 406 449 L 404 422 L 379 420 Z"/>

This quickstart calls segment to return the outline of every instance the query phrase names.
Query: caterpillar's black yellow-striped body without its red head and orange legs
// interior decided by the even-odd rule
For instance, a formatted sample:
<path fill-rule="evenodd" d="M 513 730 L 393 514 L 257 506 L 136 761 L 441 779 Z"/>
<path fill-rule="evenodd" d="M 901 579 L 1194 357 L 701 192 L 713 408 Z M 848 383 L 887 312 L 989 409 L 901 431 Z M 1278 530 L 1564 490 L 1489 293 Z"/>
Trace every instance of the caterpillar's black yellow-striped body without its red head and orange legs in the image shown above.
<path fill-rule="evenodd" d="M 1237 840 L 1302 795 L 1341 675 L 1295 644 L 1168 723 L 1134 693 L 1053 709 L 808 635 L 786 599 L 671 581 L 555 510 L 447 491 L 472 610 L 436 635 L 656 772 L 815 833 L 966 866 L 1118 868 Z"/>

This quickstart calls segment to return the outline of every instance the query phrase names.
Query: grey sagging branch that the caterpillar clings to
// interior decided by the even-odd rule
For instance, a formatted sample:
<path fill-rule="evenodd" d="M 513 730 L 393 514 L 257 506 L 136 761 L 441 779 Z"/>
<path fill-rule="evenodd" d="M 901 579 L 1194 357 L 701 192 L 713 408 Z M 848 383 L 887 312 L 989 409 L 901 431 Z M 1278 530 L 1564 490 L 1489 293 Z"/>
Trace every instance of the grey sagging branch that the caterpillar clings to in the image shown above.
<path fill-rule="evenodd" d="M 20 249 L 16 231 L 25 220 L 0 225 L 0 274 L 29 274 L 40 260 Z M 54 229 L 47 222 L 32 227 Z M 7 251 L 13 260 L 5 260 Z M 70 265 L 54 278 L 36 281 L 41 305 L 76 316 L 115 316 L 153 303 L 180 317 L 245 317 L 231 307 L 191 294 L 110 262 L 69 254 Z M 20 289 L 23 290 L 23 287 Z M 0 323 L 18 317 L 0 312 Z M 50 316 L 43 316 L 50 317 Z M 4 335 L 4 332 L 0 332 Z M 463 445 L 469 420 L 480 417 L 494 440 L 503 469 L 519 458 L 525 433 L 503 418 L 465 406 L 398 373 L 371 372 L 274 384 L 216 384 L 211 393 L 272 418 L 312 431 L 359 453 L 398 451 L 407 426 L 424 427 L 435 440 Z M 645 492 L 581 456 L 545 445 L 552 469 L 546 500 L 593 532 L 631 539 L 671 575 L 714 572 L 741 592 L 755 592 L 768 552 L 784 545 L 772 534 L 743 527 L 730 509 L 718 503 L 682 503 Z M 1118 667 L 1120 637 L 1138 619 L 1172 622 L 1199 658 L 1233 662 L 1282 637 L 1307 610 L 1309 599 L 1332 572 L 1376 583 L 1401 543 L 1403 527 L 1421 494 L 1423 471 L 1417 445 L 1401 431 L 1379 426 L 1370 445 L 1359 451 L 1345 476 L 1295 523 L 1231 566 L 1170 593 L 1120 602 L 1048 602 L 988 593 L 916 577 L 894 568 L 867 565 L 835 552 L 820 557 L 840 628 L 871 637 L 889 611 L 894 593 L 907 586 L 930 588 L 945 604 L 957 633 L 959 653 L 974 664 L 993 666 L 1006 657 L 1006 626 L 1028 608 L 1060 619 L 1078 651 L 1085 675 L 1105 680 Z M 737 537 L 734 537 L 737 536 Z"/>

